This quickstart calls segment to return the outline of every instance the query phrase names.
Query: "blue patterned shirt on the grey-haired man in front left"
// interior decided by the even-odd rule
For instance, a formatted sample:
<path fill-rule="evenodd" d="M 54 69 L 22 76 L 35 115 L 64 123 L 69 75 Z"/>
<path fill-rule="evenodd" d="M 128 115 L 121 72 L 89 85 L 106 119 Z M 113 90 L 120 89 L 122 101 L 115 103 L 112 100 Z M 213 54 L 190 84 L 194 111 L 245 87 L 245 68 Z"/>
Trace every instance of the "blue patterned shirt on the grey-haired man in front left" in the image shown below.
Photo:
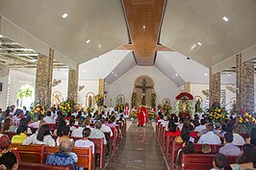
<path fill-rule="evenodd" d="M 66 154 L 52 154 L 48 158 L 46 158 L 46 164 L 64 166 L 68 166 L 69 164 L 71 164 L 73 166 L 73 170 L 77 170 L 74 160 Z"/>

